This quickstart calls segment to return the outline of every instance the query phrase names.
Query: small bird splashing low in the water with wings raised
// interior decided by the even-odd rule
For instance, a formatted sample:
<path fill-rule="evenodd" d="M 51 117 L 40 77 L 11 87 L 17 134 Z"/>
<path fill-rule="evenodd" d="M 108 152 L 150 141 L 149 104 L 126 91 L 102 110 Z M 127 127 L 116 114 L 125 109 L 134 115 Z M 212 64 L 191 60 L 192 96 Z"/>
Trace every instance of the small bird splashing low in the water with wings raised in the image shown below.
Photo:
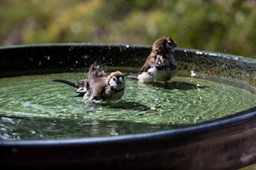
<path fill-rule="evenodd" d="M 96 100 L 117 100 L 125 94 L 125 79 L 121 71 L 111 72 L 108 77 L 104 77 L 103 71 L 99 65 L 90 65 L 88 79 L 79 80 L 79 82 L 69 82 L 67 80 L 56 79 L 53 82 L 63 82 L 77 88 L 78 96 L 84 99 Z"/>

